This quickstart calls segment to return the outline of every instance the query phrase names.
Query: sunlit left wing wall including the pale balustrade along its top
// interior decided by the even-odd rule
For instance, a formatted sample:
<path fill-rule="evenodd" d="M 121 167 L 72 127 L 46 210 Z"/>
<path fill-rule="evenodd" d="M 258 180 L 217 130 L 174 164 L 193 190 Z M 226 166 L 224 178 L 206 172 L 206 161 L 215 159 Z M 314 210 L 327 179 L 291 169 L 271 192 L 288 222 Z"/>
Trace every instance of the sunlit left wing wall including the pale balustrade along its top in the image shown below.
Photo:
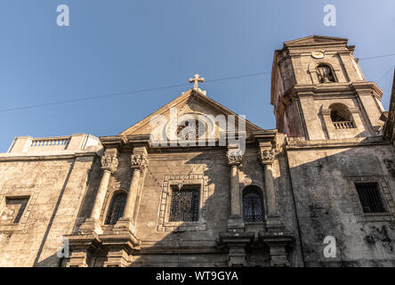
<path fill-rule="evenodd" d="M 0 154 L 0 266 L 58 266 L 73 232 L 101 142 L 90 134 L 17 137 Z M 27 201 L 16 222 L 21 204 Z"/>

